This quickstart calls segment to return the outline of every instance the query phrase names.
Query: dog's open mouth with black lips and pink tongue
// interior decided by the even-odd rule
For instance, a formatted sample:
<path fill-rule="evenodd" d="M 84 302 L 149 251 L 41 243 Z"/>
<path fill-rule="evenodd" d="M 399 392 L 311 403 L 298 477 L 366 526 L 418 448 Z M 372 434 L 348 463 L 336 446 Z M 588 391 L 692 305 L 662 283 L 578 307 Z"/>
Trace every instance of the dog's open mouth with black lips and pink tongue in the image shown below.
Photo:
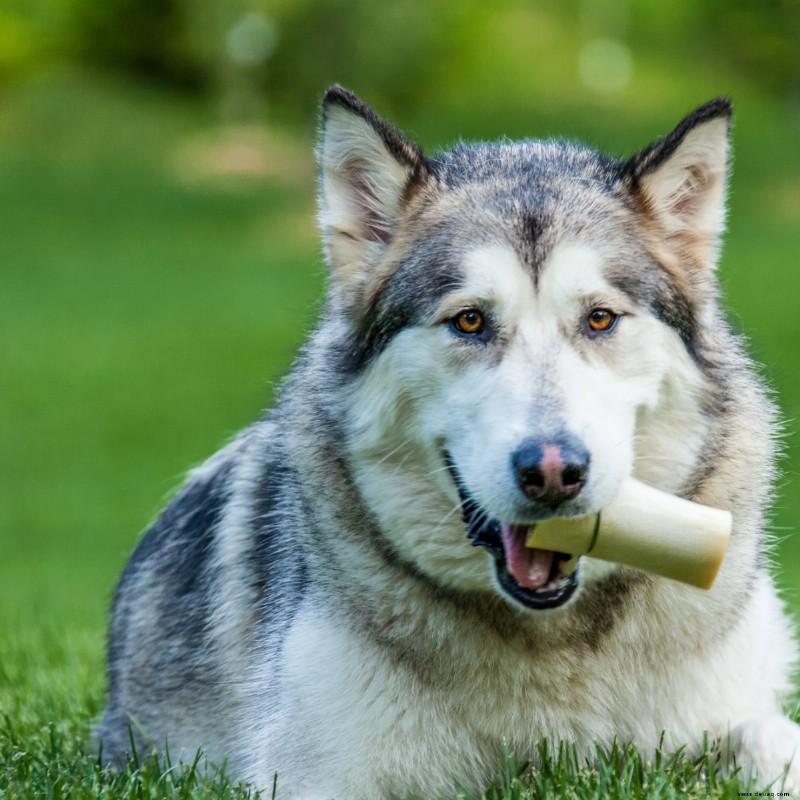
<path fill-rule="evenodd" d="M 444 453 L 444 460 L 458 489 L 467 536 L 494 558 L 502 590 L 526 608 L 564 605 L 578 588 L 577 557 L 526 547 L 533 525 L 492 519 L 470 495 L 449 453 Z"/>

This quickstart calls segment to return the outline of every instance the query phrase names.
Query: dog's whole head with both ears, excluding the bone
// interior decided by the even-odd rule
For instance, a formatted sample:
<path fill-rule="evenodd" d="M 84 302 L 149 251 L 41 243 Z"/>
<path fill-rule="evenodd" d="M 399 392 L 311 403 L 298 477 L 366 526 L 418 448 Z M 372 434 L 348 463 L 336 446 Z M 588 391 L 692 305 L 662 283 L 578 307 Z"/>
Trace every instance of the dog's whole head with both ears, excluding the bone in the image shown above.
<path fill-rule="evenodd" d="M 614 566 L 525 548 L 531 525 L 596 513 L 634 471 L 673 491 L 690 477 L 729 116 L 714 101 L 628 162 L 539 142 L 428 160 L 328 93 L 349 455 L 402 558 L 556 608 Z"/>

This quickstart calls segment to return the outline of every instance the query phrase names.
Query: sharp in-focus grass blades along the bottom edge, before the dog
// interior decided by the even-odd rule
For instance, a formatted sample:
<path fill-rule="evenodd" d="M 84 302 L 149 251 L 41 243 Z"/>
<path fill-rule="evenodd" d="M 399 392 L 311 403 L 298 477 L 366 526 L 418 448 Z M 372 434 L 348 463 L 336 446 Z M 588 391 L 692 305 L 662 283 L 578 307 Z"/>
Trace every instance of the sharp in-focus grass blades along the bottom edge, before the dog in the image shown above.
<path fill-rule="evenodd" d="M 540 798 L 597 798 L 598 800 L 677 800 L 734 798 L 757 787 L 725 776 L 708 753 L 689 760 L 681 753 L 654 754 L 645 761 L 631 747 L 598 750 L 592 763 L 581 761 L 562 744 L 539 748 L 539 766 L 518 764 L 506 753 L 498 777 L 480 794 L 459 793 L 452 800 L 539 800 Z M 182 800 L 182 798 L 274 798 L 280 787 L 276 774 L 271 787 L 259 793 L 233 781 L 224 767 L 207 764 L 198 754 L 192 762 L 173 764 L 169 757 L 134 754 L 127 768 L 112 772 L 86 755 L 80 732 L 55 723 L 38 730 L 15 726 L 6 717 L 0 724 L 0 796 L 34 798 L 93 797 L 119 800 Z M 777 791 L 777 789 L 774 789 Z M 773 794 L 772 796 L 778 796 Z M 442 798 L 442 800 L 444 800 Z"/>

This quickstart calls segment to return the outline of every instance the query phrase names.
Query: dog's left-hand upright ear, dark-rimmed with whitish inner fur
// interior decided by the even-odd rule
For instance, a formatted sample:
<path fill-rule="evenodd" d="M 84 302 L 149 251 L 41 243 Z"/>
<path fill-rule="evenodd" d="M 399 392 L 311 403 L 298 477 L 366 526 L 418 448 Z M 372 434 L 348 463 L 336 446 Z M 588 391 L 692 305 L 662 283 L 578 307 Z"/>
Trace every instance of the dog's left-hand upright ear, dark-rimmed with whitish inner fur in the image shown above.
<path fill-rule="evenodd" d="M 391 241 L 412 188 L 427 177 L 420 149 L 341 86 L 322 102 L 319 221 L 335 281 L 360 283 Z"/>

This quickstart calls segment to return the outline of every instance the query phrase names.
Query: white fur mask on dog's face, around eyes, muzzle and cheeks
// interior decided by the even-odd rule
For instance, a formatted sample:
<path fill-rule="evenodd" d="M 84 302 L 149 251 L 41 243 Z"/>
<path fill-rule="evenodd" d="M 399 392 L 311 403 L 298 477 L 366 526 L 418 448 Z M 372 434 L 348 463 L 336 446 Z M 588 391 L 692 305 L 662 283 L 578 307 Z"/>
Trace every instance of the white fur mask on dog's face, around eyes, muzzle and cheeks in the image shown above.
<path fill-rule="evenodd" d="M 462 289 L 428 324 L 395 337 L 355 387 L 356 480 L 400 554 L 437 580 L 484 589 L 492 580 L 490 559 L 464 535 L 444 449 L 470 494 L 507 522 L 535 521 L 511 469 L 531 437 L 566 431 L 588 449 L 586 485 L 562 507 L 571 514 L 600 510 L 633 473 L 667 490 L 687 479 L 700 446 L 702 376 L 677 333 L 635 307 L 603 268 L 591 247 L 562 243 L 535 287 L 511 247 L 473 250 Z M 459 340 L 443 322 L 465 306 L 494 320 L 502 350 Z M 593 307 L 621 316 L 613 332 L 590 339 L 583 321 Z M 590 580 L 610 569 L 586 567 Z"/>

